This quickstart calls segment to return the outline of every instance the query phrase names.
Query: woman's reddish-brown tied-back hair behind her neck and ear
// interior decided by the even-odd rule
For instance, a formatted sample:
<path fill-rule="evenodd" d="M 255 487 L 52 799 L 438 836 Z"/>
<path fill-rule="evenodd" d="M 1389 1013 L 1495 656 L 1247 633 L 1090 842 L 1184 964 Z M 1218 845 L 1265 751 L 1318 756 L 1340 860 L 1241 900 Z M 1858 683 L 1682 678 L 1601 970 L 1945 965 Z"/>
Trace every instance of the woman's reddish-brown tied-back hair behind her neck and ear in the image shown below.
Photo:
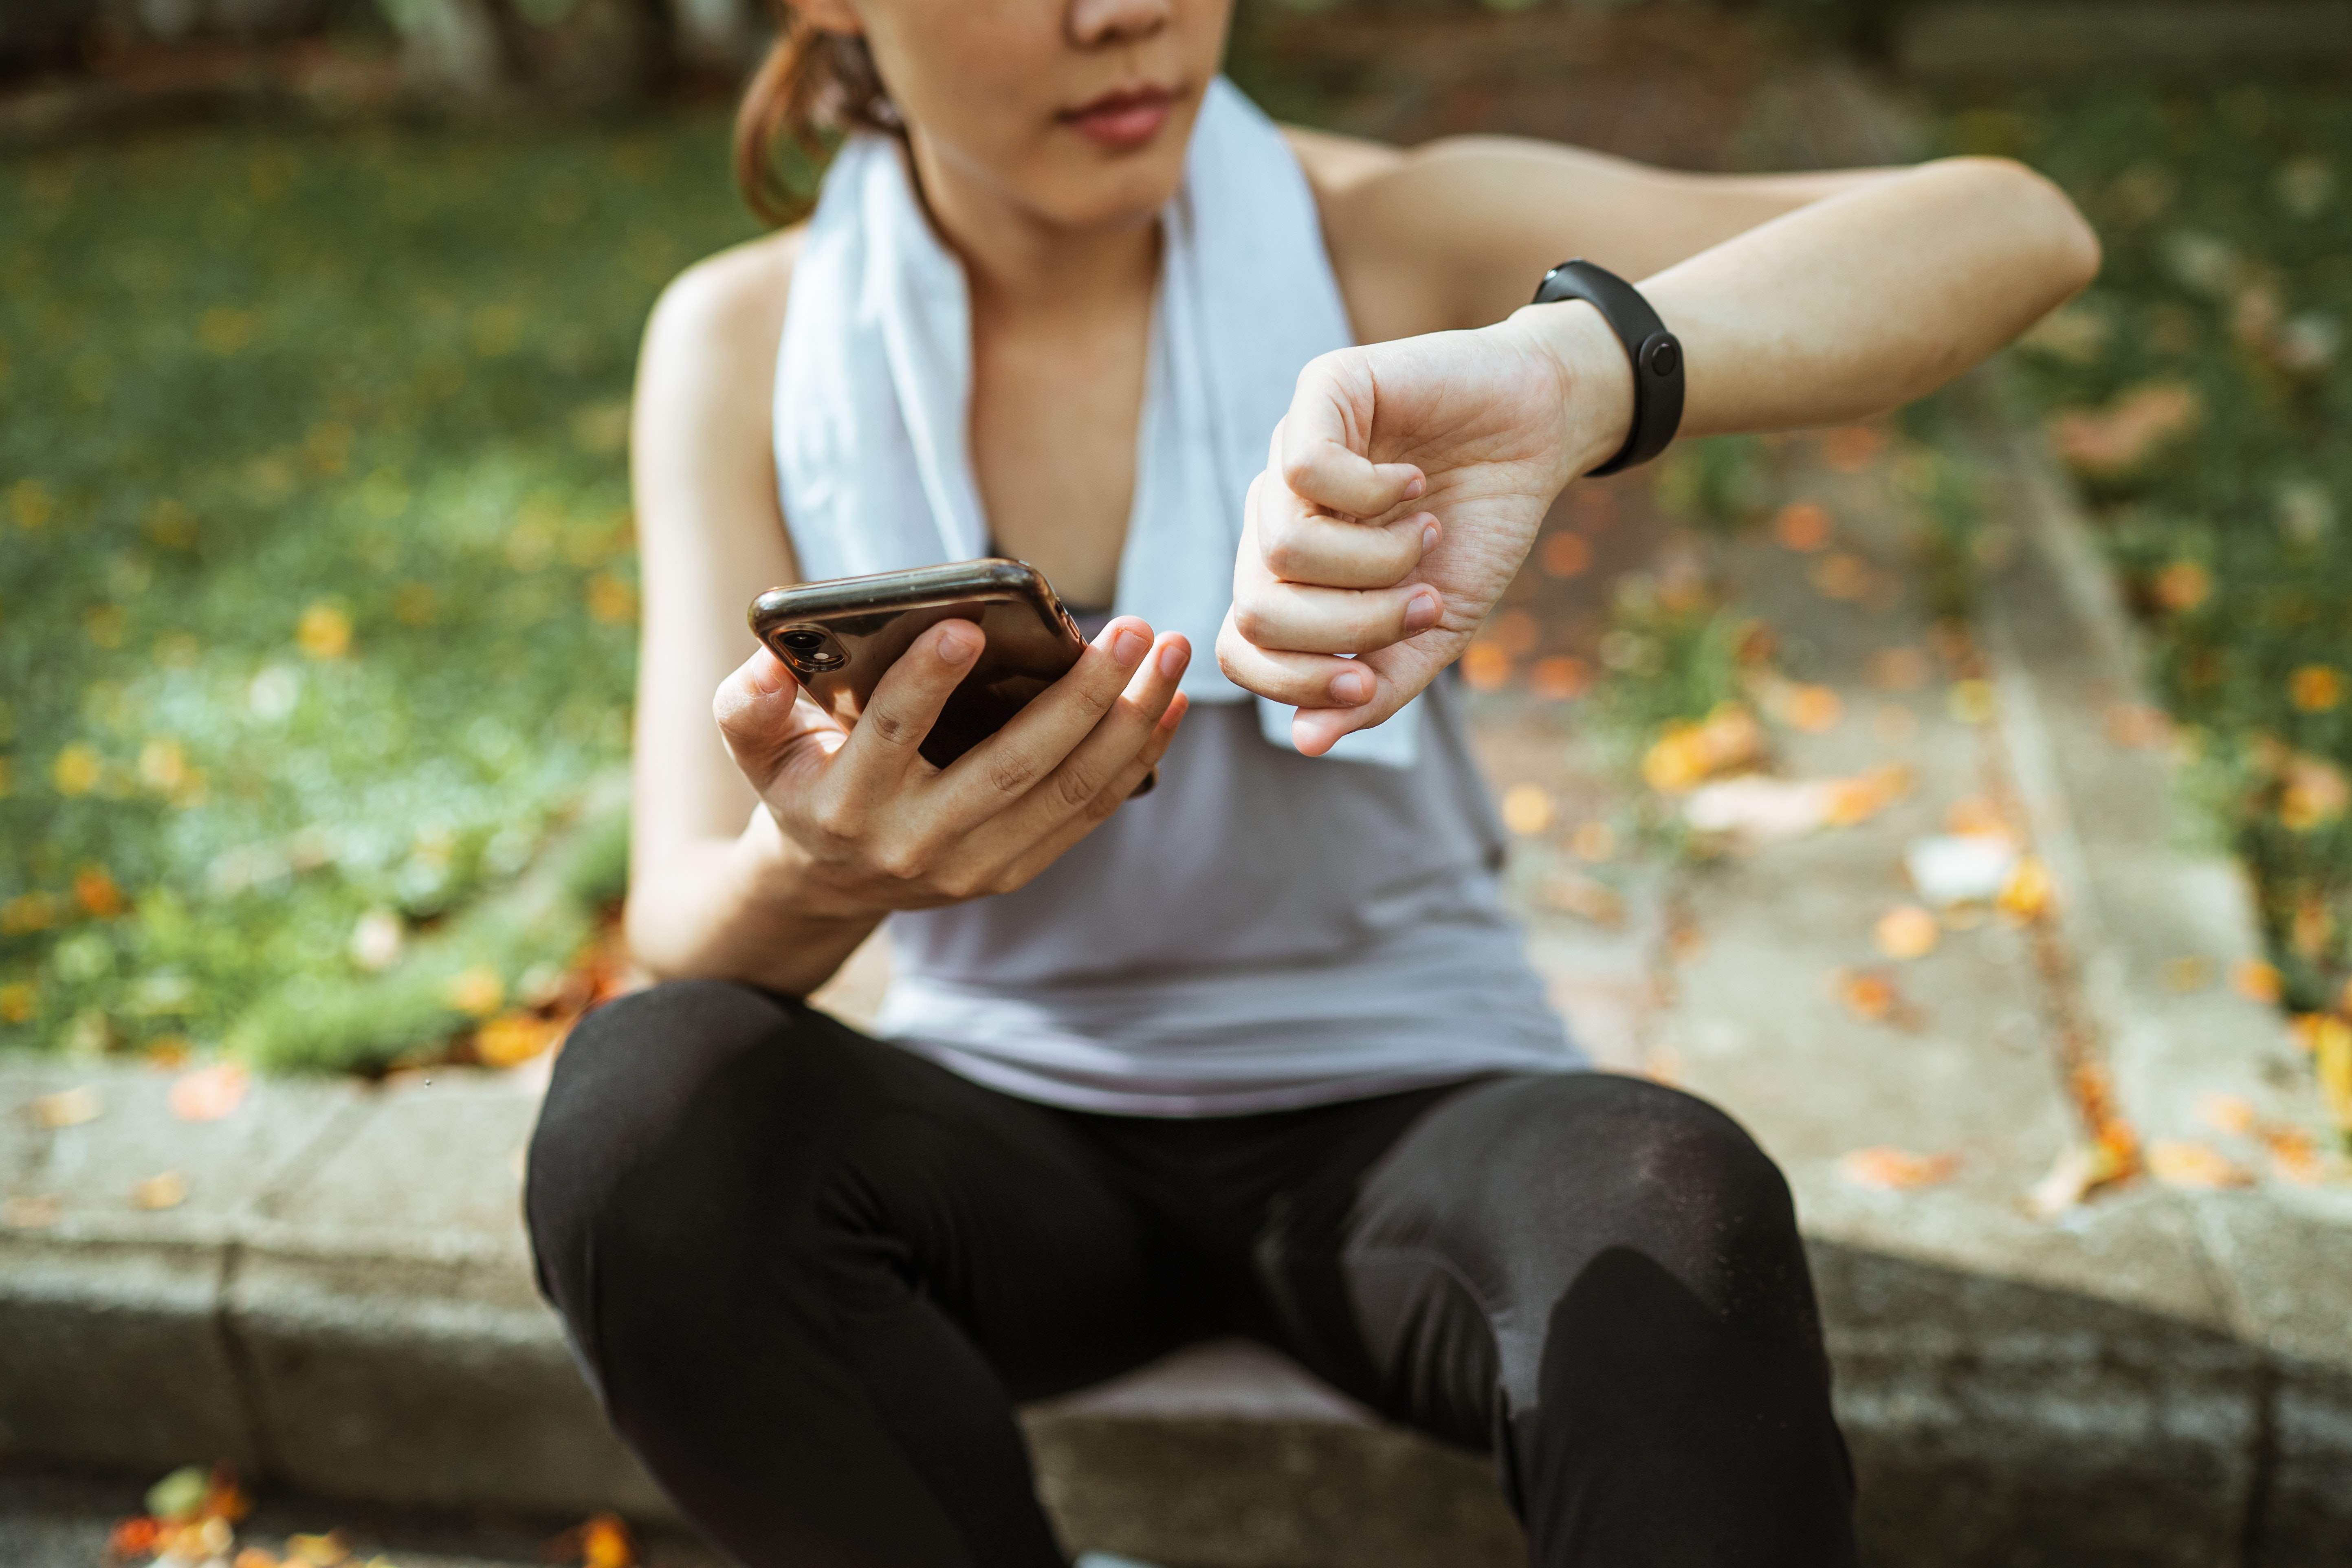
<path fill-rule="evenodd" d="M 811 162 L 830 153 L 826 132 L 898 134 L 875 56 L 854 33 L 811 28 L 783 0 L 769 0 L 776 42 L 736 110 L 736 186 L 767 223 L 790 223 L 809 200 L 783 176 L 779 153 L 797 146 Z"/>

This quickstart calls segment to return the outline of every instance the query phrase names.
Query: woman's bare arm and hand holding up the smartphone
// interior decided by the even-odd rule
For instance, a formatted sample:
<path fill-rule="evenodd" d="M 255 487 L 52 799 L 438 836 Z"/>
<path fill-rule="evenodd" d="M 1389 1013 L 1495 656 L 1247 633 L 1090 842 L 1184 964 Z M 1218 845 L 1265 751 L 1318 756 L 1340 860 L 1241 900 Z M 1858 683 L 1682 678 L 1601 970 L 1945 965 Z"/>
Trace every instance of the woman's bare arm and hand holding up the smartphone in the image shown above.
<path fill-rule="evenodd" d="M 971 623 L 924 632 L 854 731 L 800 696 L 743 621 L 762 588 L 797 581 L 769 435 L 797 242 L 670 284 L 630 425 L 644 621 L 628 943 L 663 978 L 788 994 L 823 985 L 887 912 L 1009 891 L 1091 832 L 1167 750 L 1190 658 L 1122 616 L 946 771 L 917 748 L 978 656 Z"/>

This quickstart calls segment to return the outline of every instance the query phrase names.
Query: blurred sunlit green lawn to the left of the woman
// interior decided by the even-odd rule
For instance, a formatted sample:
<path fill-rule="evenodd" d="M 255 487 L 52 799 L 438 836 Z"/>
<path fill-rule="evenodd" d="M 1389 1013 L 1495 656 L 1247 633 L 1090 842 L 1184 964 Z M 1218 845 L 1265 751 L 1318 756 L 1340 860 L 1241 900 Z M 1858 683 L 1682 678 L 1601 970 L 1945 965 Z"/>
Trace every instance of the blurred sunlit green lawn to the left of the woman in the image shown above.
<path fill-rule="evenodd" d="M 0 1041 L 447 1034 L 433 929 L 628 750 L 630 367 L 750 233 L 724 122 L 85 146 L 0 212 Z M 501 990 L 619 891 L 574 839 L 473 917 Z"/>

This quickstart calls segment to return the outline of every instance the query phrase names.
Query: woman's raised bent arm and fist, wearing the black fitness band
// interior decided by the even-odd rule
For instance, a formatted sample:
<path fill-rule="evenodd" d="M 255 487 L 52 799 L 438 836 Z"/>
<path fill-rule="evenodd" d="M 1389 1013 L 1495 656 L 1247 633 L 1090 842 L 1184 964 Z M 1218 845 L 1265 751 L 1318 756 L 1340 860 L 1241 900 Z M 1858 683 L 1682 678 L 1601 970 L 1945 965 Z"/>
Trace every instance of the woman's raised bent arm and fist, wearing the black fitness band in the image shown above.
<path fill-rule="evenodd" d="M 1682 339 L 1682 430 L 1715 435 L 1919 397 L 2098 270 L 2065 195 L 2002 160 L 1764 181 L 1595 160 L 1609 169 L 1583 186 L 1613 186 L 1609 200 L 1566 179 L 1552 202 L 1541 188 L 1559 176 L 1531 176 L 1550 160 L 1508 158 L 1519 179 L 1458 155 L 1454 179 L 1428 181 L 1442 162 L 1404 158 L 1324 197 L 1359 336 L 1414 336 L 1315 360 L 1251 491 L 1218 661 L 1303 710 L 1301 750 L 1378 724 L 1451 663 L 1552 498 L 1625 442 L 1632 369 L 1599 313 L 1564 301 L 1496 320 L 1505 287 L 1524 301 L 1566 254 L 1623 270 Z M 1550 207 L 1578 221 L 1552 230 Z M 1439 529 L 1416 559 L 1397 552 L 1423 531 L 1350 522 L 1414 510 Z M 1348 701 L 1364 670 L 1374 691 Z"/>

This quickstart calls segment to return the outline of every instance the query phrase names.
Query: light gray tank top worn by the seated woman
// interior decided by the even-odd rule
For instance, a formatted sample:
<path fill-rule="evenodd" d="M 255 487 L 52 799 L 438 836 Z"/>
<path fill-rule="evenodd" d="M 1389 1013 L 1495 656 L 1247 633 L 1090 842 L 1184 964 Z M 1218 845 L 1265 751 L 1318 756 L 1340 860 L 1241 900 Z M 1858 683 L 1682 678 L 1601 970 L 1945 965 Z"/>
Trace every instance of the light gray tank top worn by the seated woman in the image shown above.
<path fill-rule="evenodd" d="M 1007 1093 L 1202 1117 L 1583 1067 L 1501 907 L 1503 825 L 1451 675 L 1409 769 L 1301 757 L 1197 703 L 1028 886 L 894 914 L 877 1030 Z"/>

